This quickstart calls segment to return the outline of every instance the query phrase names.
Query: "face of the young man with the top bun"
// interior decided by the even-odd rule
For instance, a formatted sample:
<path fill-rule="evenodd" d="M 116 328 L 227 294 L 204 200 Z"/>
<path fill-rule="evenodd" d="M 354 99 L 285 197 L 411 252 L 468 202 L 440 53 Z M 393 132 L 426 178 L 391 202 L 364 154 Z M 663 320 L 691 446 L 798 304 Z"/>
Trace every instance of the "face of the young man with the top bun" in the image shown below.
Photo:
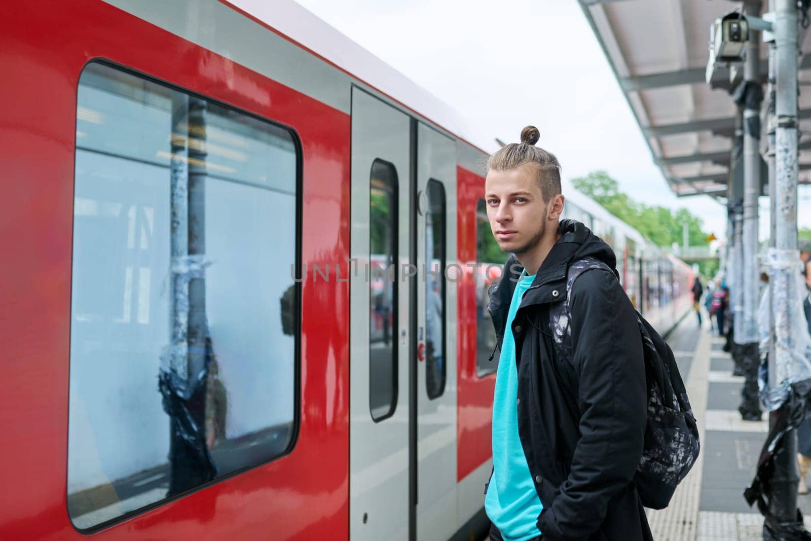
<path fill-rule="evenodd" d="M 484 182 L 487 217 L 496 242 L 504 251 L 524 253 L 537 246 L 547 230 L 560 217 L 563 196 L 547 204 L 531 165 L 508 171 L 491 170 Z M 560 210 L 550 207 L 560 199 Z"/>

